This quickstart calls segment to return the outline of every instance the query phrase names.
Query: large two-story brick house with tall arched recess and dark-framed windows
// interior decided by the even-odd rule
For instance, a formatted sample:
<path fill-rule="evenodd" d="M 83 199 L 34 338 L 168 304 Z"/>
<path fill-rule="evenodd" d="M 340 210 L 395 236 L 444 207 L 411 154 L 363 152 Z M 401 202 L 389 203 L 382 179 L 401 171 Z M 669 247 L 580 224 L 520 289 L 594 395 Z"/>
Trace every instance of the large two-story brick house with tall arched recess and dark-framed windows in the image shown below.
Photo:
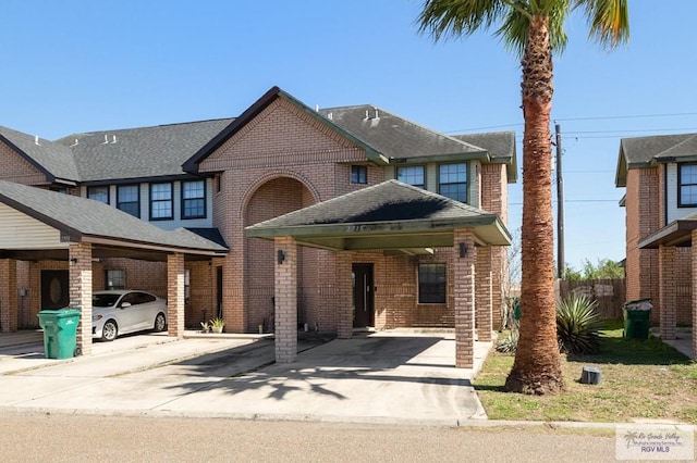
<path fill-rule="evenodd" d="M 516 182 L 511 132 L 445 136 L 372 105 L 313 110 L 274 87 L 237 118 L 77 134 L 58 141 L 0 127 L 0 159 L 5 166 L 0 180 L 109 204 L 122 211 L 109 217 L 112 227 L 127 213 L 183 237 L 171 243 L 176 251 L 105 230 L 95 237 L 78 229 L 78 238 L 65 240 L 89 237 L 95 290 L 130 287 L 167 297 L 170 305 L 176 300 L 181 306 L 170 309 L 176 323 L 170 333 L 222 316 L 229 331 L 276 330 L 278 339 L 274 318 L 286 303 L 293 305 L 293 329 L 307 326 L 345 336 L 352 327 L 456 327 L 455 306 L 467 298 L 469 305 L 476 298 L 482 308 L 476 322 L 480 339 L 490 339 L 500 324 L 504 246 L 510 243 L 508 184 Z M 357 200 L 351 196 L 363 190 Z M 354 198 L 341 202 L 344 218 L 323 209 L 322 216 L 299 218 L 295 225 L 302 233 L 253 227 L 344 197 Z M 94 201 L 84 201 L 86 217 Z M 0 221 L 13 213 L 10 209 L 61 234 L 73 226 L 51 210 L 40 214 L 15 204 L 0 188 Z M 351 230 L 340 230 L 347 223 Z M 330 224 L 334 235 L 318 238 L 321 225 Z M 24 249 L 23 236 L 10 239 L 2 232 L 0 277 L 16 273 L 20 295 L 4 295 L 16 299 L 16 310 L 14 303 L 9 310 L 0 305 L 0 329 L 7 331 L 34 326 L 40 309 L 73 302 L 73 295 L 66 296 L 72 273 L 65 283 L 73 266 L 65 247 L 58 247 L 63 253 Z M 314 238 L 305 239 L 306 233 Z M 363 239 L 368 235 L 370 240 Z M 279 268 L 286 259 L 279 240 L 292 249 L 299 243 L 293 251 L 297 255 L 292 254 L 293 301 L 279 301 Z M 173 254 L 183 255 L 183 263 Z M 473 259 L 475 265 L 477 289 L 465 299 L 457 296 L 461 274 L 453 255 Z M 351 278 L 343 277 L 342 265 Z M 345 281 L 353 295 L 342 292 Z M 337 310 L 341 298 L 348 300 L 351 313 Z M 176 310 L 182 311 L 179 317 Z"/>

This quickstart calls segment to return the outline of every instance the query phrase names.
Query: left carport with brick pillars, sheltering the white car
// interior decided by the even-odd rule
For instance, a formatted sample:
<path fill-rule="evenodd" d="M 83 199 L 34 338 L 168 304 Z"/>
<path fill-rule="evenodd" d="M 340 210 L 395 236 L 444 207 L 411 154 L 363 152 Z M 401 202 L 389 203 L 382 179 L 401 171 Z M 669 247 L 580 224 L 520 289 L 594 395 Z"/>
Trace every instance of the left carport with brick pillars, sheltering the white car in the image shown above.
<path fill-rule="evenodd" d="M 167 262 L 169 336 L 184 334 L 184 261 L 224 256 L 228 248 L 193 232 L 163 230 L 113 207 L 0 182 L 0 324 L 16 330 L 17 261 L 64 261 L 70 306 L 81 309 L 77 346 L 91 353 L 93 261 L 130 258 Z"/>

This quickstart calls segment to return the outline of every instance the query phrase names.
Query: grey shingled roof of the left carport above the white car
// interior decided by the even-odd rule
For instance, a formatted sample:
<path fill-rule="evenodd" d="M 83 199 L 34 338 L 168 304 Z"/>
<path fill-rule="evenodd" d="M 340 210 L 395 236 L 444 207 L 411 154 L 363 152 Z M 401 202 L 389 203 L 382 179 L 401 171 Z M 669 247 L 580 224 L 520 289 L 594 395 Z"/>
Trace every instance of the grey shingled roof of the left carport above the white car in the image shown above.
<path fill-rule="evenodd" d="M 90 199 L 0 180 L 0 203 L 60 232 L 61 241 L 84 241 L 147 252 L 223 255 L 228 248 L 179 228 L 168 232 Z"/>

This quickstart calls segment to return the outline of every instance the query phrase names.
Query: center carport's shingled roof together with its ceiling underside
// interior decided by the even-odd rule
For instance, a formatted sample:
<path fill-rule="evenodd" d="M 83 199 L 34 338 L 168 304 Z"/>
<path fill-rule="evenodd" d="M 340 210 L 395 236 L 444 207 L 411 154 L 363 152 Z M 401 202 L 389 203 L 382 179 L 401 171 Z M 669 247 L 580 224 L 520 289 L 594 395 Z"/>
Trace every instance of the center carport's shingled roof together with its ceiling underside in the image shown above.
<path fill-rule="evenodd" d="M 455 228 L 472 228 L 481 246 L 509 246 L 497 214 L 398 180 L 310 205 L 245 228 L 248 237 L 292 236 L 304 246 L 331 250 L 424 253 L 453 246 Z"/>

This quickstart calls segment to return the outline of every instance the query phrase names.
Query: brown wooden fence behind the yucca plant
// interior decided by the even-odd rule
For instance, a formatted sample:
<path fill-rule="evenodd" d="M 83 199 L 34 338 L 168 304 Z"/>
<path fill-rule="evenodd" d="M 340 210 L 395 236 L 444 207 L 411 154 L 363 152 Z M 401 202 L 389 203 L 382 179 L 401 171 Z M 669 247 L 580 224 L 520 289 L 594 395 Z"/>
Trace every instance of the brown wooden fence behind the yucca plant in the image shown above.
<path fill-rule="evenodd" d="M 570 295 L 585 295 L 598 301 L 598 311 L 603 318 L 622 318 L 622 306 L 626 302 L 624 278 L 591 279 L 582 281 L 557 280 L 558 295 L 563 299 Z"/>

